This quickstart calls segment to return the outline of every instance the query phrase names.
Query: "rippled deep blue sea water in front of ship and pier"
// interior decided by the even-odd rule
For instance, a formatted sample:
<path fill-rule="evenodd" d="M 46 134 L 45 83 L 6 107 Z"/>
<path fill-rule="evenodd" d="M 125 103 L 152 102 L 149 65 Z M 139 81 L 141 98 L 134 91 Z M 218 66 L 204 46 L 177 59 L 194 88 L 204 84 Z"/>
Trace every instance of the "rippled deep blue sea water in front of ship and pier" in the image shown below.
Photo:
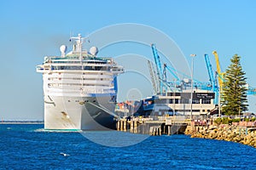
<path fill-rule="evenodd" d="M 41 124 L 1 124 L 0 169 L 256 169 L 256 149 L 233 142 L 172 135 L 108 147 L 82 133 L 42 128 Z M 90 135 L 96 133 L 102 138 L 116 135 L 108 131 Z"/>

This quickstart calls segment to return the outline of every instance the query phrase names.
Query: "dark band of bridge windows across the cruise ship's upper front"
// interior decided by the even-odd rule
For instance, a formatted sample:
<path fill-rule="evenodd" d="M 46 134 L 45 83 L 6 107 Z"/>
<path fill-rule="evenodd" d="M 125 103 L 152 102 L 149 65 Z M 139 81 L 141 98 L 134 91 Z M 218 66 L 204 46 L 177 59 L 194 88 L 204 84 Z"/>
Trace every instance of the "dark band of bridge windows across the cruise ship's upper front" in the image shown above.
<path fill-rule="evenodd" d="M 107 66 L 51 66 L 51 70 L 110 71 Z"/>

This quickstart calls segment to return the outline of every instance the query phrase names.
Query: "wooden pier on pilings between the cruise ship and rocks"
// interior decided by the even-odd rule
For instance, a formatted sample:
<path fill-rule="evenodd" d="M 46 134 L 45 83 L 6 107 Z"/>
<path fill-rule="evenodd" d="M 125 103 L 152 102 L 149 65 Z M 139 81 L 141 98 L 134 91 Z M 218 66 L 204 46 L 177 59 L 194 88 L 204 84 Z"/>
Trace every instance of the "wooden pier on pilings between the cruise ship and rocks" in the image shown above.
<path fill-rule="evenodd" d="M 183 116 L 139 116 L 119 119 L 116 128 L 118 131 L 160 136 L 184 133 L 189 123 Z"/>

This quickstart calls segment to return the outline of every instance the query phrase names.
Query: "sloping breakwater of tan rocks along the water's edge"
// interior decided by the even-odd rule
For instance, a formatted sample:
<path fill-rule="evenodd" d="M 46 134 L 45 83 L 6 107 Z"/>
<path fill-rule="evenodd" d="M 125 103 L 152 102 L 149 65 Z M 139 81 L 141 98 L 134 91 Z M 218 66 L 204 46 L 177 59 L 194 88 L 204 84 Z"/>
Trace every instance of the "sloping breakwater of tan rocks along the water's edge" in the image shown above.
<path fill-rule="evenodd" d="M 185 134 L 191 138 L 218 139 L 247 144 L 256 148 L 256 127 L 236 125 L 188 126 Z"/>

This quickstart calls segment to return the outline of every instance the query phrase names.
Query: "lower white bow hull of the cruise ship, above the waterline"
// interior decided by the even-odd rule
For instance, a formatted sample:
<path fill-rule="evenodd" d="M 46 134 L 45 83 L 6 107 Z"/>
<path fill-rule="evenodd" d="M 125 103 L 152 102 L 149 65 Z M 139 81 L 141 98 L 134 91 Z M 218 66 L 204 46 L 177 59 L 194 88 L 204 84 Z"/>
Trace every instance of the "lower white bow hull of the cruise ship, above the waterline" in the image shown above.
<path fill-rule="evenodd" d="M 65 130 L 107 130 L 113 128 L 114 110 L 109 97 L 50 97 L 44 101 L 44 128 Z M 47 101 L 49 100 L 49 101 Z M 86 102 L 84 102 L 86 101 Z"/>

